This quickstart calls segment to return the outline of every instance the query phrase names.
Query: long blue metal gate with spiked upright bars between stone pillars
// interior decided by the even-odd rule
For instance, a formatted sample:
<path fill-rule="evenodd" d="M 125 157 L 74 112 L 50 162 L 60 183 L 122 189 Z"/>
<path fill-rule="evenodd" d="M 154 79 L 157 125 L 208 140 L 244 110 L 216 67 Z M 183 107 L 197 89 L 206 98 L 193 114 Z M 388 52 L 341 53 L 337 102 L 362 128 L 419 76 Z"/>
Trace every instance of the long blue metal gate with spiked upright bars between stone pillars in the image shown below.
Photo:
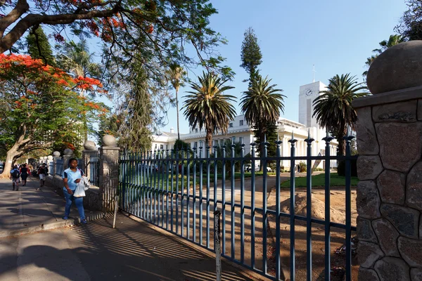
<path fill-rule="evenodd" d="M 235 145 L 214 147 L 212 154 L 209 147 L 124 153 L 120 155 L 120 209 L 211 251 L 215 251 L 215 246 L 214 226 L 210 221 L 218 209 L 222 213 L 222 256 L 272 280 L 295 280 L 300 270 L 306 272 L 307 280 L 312 280 L 312 257 L 315 256 L 312 232 L 315 228 L 324 234 L 324 249 L 318 249 L 319 254 L 324 255 L 324 270 L 318 274 L 324 280 L 330 280 L 333 273 L 331 233 L 335 229 L 336 233 L 344 235 L 344 247 L 340 247 L 344 257 L 343 274 L 345 280 L 351 280 L 351 240 L 352 231 L 356 231 L 351 211 L 351 162 L 356 159 L 350 155 L 352 138 L 345 138 L 346 156 L 330 155 L 333 138 L 329 136 L 323 138 L 326 143 L 324 156 L 312 156 L 314 139 L 310 137 L 305 140 L 307 156 L 295 156 L 293 136 L 288 141 L 289 157 L 280 156 L 281 141 L 275 143 L 276 157 L 267 157 L 269 143 L 261 144 L 260 156 L 255 153 L 256 144 L 252 143 L 250 157 L 245 157 L 244 145 L 240 155 L 235 155 Z M 290 187 L 284 190 L 280 187 L 283 160 L 288 160 L 292 167 L 288 174 Z M 333 160 L 345 163 L 345 183 L 341 190 L 345 193 L 344 223 L 331 221 L 330 163 Z M 295 208 L 291 207 L 295 206 L 298 191 L 293 167 L 300 161 L 306 162 L 308 167 L 307 187 L 303 190 L 306 193 L 305 215 L 295 214 Z M 325 168 L 324 219 L 312 217 L 311 167 L 316 161 L 324 161 Z M 262 172 L 255 169 L 245 172 L 245 165 L 250 163 L 255 167 L 255 162 L 262 163 Z M 267 167 L 271 163 L 275 165 L 275 171 L 270 176 Z M 275 184 L 275 188 L 272 189 L 269 183 Z M 281 192 L 288 195 L 283 203 Z M 281 203 L 288 202 L 289 211 L 283 211 Z M 299 232 L 299 228 L 306 231 Z M 296 251 L 298 243 L 302 243 L 306 254 Z"/>

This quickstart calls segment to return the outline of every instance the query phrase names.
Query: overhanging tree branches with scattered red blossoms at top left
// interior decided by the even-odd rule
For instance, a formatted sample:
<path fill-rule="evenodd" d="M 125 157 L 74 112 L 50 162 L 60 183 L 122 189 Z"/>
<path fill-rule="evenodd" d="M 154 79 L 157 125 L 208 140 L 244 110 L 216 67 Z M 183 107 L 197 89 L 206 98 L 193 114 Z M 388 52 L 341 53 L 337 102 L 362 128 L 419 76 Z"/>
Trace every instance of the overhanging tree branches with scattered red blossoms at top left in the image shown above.
<path fill-rule="evenodd" d="M 13 50 L 31 28 L 48 25 L 56 41 L 68 32 L 100 39 L 105 65 L 124 69 L 139 55 L 150 78 L 161 75 L 156 65 L 217 67 L 224 60 L 215 51 L 226 40 L 210 28 L 217 13 L 210 0 L 5 0 L 0 13 L 0 53 Z"/>

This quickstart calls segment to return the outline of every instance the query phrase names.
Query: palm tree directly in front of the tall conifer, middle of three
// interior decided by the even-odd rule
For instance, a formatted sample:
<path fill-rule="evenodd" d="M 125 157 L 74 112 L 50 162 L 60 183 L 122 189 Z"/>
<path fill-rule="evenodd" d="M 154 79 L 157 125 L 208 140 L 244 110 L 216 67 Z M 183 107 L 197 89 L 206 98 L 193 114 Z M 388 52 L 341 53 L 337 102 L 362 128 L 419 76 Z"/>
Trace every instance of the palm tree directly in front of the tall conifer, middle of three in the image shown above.
<path fill-rule="evenodd" d="M 280 112 L 284 112 L 283 101 L 286 96 L 281 94 L 283 90 L 275 89 L 277 85 L 270 85 L 270 82 L 271 79 L 261 76 L 253 80 L 248 91 L 243 92 L 240 103 L 242 114 L 255 129 L 258 142 L 264 141 L 269 125 L 275 125 Z"/>

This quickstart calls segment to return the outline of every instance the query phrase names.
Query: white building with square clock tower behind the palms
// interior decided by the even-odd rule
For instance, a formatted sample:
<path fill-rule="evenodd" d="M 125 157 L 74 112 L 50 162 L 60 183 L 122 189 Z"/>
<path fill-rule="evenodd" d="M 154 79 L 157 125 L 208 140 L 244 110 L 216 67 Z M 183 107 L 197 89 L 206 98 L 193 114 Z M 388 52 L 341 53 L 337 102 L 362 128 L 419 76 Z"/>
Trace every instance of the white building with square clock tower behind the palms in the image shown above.
<path fill-rule="evenodd" d="M 290 156 L 290 143 L 288 142 L 292 133 L 297 143 L 295 143 L 295 155 L 306 156 L 307 143 L 305 139 L 308 136 L 308 131 L 311 138 L 314 138 L 312 143 L 312 155 L 316 156 L 321 153 L 325 155 L 325 142 L 322 138 L 326 136 L 326 131 L 319 126 L 316 122 L 316 118 L 312 117 L 314 112 L 314 99 L 320 96 L 320 91 L 324 91 L 326 85 L 320 81 L 316 81 L 311 84 L 300 86 L 299 90 L 299 122 L 294 122 L 286 118 L 280 118 L 277 122 L 278 133 L 281 144 L 281 156 Z M 189 128 L 189 133 L 180 134 L 181 140 L 191 144 L 191 148 L 205 147 L 205 129 Z M 160 136 L 154 136 L 153 138 L 153 150 L 154 149 L 171 149 L 174 141 L 177 139 L 177 133 L 171 129 L 170 133 L 162 133 Z M 241 142 L 245 144 L 245 155 L 250 152 L 250 143 L 254 142 L 254 133 L 252 128 L 245 121 L 245 115 L 238 115 L 229 124 L 228 132 L 225 134 L 217 133 L 212 136 L 212 145 L 223 145 L 227 140 L 233 140 L 235 142 Z M 335 155 L 337 150 L 336 141 L 331 142 L 331 155 Z M 290 162 L 283 160 L 282 166 L 289 167 Z M 332 161 L 331 166 L 336 166 L 335 161 Z M 324 161 L 321 161 L 319 167 L 324 167 Z"/>

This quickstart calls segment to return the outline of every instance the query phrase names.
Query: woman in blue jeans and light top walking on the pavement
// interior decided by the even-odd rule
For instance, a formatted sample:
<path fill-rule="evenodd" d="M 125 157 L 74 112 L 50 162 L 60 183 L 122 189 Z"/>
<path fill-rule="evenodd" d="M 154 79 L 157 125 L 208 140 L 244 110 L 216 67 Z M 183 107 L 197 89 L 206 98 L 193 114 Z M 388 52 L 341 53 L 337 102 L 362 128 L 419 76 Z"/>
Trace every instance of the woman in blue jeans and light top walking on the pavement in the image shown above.
<path fill-rule="evenodd" d="M 69 159 L 69 168 L 63 172 L 63 184 L 65 185 L 63 193 L 66 199 L 65 216 L 63 216 L 63 219 L 67 220 L 69 218 L 70 207 L 72 206 L 72 202 L 75 201 L 81 223 L 87 224 L 87 220 L 85 220 L 84 197 L 73 196 L 76 185 L 82 180 L 82 176 L 84 176 L 84 172 L 81 169 L 77 169 L 77 159 Z"/>

